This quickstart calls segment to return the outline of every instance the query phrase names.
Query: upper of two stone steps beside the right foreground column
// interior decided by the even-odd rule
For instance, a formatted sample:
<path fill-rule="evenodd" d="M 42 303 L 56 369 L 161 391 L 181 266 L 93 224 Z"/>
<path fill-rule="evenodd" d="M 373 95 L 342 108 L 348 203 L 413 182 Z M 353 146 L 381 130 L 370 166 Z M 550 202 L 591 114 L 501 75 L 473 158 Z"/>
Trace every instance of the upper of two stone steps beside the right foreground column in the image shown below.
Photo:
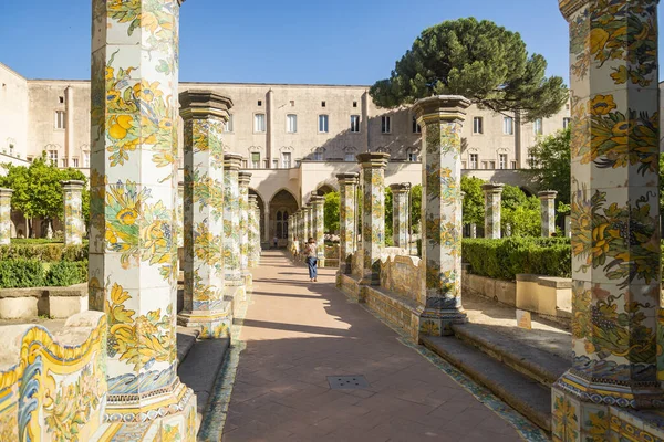
<path fill-rule="evenodd" d="M 572 365 L 571 360 L 518 339 L 510 339 L 496 332 L 496 328 L 479 324 L 453 326 L 458 339 L 547 387 L 556 382 Z M 523 334 L 527 333 L 528 330 L 523 330 Z"/>

